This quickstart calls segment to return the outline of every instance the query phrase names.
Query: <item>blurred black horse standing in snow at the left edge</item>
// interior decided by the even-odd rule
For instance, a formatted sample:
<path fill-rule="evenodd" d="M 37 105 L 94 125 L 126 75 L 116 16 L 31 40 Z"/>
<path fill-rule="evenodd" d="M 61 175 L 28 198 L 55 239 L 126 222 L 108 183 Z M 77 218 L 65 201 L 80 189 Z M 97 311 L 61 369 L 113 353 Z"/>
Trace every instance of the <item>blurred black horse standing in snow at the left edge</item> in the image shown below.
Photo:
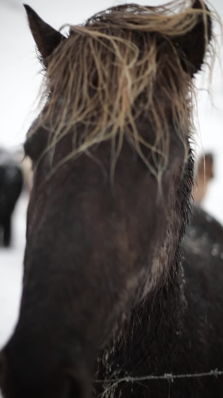
<path fill-rule="evenodd" d="M 3 245 L 11 243 L 11 217 L 23 187 L 23 175 L 19 164 L 5 148 L 0 148 L 0 228 Z"/>

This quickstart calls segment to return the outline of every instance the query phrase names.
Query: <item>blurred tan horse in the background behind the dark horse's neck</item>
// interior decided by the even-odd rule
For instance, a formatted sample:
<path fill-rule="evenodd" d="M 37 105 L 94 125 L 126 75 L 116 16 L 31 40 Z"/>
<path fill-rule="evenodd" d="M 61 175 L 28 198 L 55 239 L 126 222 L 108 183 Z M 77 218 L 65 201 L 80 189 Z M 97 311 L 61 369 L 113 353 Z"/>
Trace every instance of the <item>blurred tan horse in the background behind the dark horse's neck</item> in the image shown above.
<path fill-rule="evenodd" d="M 192 199 L 198 205 L 202 204 L 208 184 L 214 178 L 213 162 L 214 156 L 212 153 L 205 153 L 198 159 L 196 185 L 192 189 Z"/>

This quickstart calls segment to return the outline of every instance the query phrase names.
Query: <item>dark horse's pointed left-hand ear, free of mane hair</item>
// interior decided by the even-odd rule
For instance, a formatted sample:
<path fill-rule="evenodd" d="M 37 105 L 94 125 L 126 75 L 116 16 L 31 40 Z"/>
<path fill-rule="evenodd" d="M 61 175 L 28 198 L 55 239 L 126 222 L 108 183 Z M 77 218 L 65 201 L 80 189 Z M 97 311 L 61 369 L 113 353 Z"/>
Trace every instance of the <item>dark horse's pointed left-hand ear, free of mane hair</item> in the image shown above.
<path fill-rule="evenodd" d="M 52 55 L 54 49 L 56 49 L 65 37 L 48 25 L 48 23 L 44 22 L 30 6 L 27 4 L 23 4 L 23 6 L 27 13 L 29 27 L 37 49 L 42 57 L 43 64 L 47 66 L 48 57 Z"/>

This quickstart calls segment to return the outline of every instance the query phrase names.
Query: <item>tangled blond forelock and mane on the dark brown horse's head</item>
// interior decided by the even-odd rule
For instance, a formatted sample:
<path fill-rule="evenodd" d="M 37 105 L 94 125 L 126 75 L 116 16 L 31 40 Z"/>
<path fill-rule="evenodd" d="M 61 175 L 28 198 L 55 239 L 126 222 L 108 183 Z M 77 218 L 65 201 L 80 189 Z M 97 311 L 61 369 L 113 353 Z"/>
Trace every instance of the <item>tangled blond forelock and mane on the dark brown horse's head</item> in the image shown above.
<path fill-rule="evenodd" d="M 199 2 L 201 10 L 185 9 L 185 1 L 161 7 L 121 5 L 84 25 L 69 25 L 69 36 L 47 62 L 42 98 L 48 100 L 35 129 L 44 125 L 53 131 L 51 147 L 73 131 L 73 148 L 65 160 L 111 140 L 113 167 L 125 137 L 155 174 L 142 147 L 158 155 L 161 170 L 168 161 L 171 121 L 186 159 L 194 131 L 194 83 L 189 61 L 182 64 L 171 39 L 190 31 L 202 14 L 208 45 L 210 11 Z M 154 131 L 154 142 L 140 134 L 140 120 Z"/>

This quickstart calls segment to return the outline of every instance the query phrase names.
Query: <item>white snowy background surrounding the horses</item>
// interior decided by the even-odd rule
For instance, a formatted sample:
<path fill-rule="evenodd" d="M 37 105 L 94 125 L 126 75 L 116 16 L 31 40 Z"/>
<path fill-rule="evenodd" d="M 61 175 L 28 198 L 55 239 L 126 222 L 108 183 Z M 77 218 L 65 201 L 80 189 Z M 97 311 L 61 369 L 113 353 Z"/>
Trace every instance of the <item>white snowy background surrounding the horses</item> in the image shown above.
<path fill-rule="evenodd" d="M 112 0 L 26 0 L 54 28 L 64 23 L 82 23 L 97 11 L 122 2 Z M 223 0 L 210 0 L 223 20 Z M 136 1 L 158 5 L 162 0 Z M 219 34 L 219 29 L 215 28 Z M 219 37 L 222 50 L 222 42 Z M 34 41 L 27 25 L 22 0 L 0 0 L 0 146 L 21 144 L 35 118 L 35 102 L 41 82 Z M 199 137 L 196 152 L 215 155 L 215 178 L 210 183 L 203 207 L 223 222 L 223 74 L 216 62 L 212 98 L 205 91 L 198 95 Z M 198 77 L 198 86 L 206 83 Z M 198 125 L 198 123 L 197 123 Z M 23 194 L 13 215 L 13 242 L 10 250 L 0 248 L 0 348 L 13 331 L 21 295 L 22 262 L 25 248 L 27 196 Z"/>

